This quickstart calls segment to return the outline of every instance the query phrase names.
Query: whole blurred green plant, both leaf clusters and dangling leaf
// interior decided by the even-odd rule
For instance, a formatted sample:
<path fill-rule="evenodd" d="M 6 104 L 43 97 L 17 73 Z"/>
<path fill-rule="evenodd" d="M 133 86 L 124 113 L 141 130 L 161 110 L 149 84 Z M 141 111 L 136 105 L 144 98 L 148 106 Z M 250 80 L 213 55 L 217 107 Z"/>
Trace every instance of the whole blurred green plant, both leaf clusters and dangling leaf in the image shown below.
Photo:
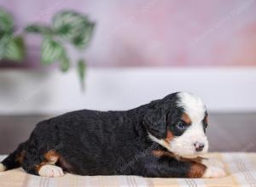
<path fill-rule="evenodd" d="M 42 36 L 42 64 L 50 65 L 57 62 L 61 71 L 66 72 L 71 64 L 67 44 L 82 52 L 89 45 L 94 28 L 95 23 L 88 20 L 84 14 L 65 10 L 55 14 L 49 25 L 34 23 L 26 26 L 25 31 Z M 25 56 L 24 39 L 21 35 L 15 35 L 12 15 L 4 8 L 0 8 L 0 61 L 10 59 L 20 62 Z M 78 59 L 76 65 L 81 86 L 84 88 L 85 60 Z"/>

